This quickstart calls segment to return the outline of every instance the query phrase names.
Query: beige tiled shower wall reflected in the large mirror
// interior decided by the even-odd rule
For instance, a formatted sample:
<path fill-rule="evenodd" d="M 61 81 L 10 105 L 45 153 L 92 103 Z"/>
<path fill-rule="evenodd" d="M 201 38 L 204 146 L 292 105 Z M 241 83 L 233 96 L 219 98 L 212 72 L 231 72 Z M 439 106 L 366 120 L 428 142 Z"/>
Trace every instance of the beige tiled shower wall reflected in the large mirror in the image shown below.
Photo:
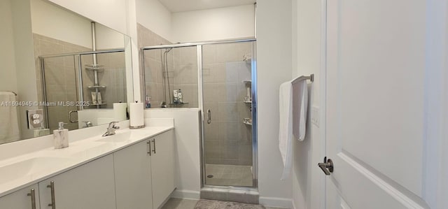
<path fill-rule="evenodd" d="M 41 64 L 38 56 L 57 55 L 69 52 L 91 51 L 80 45 L 74 45 L 54 38 L 34 34 L 34 55 L 36 60 L 36 85 L 38 89 L 38 101 L 43 101 L 41 83 Z M 92 55 L 83 55 L 82 64 L 92 64 Z M 99 84 L 106 85 L 102 91 L 102 98 L 108 101 L 107 106 L 102 108 L 113 108 L 113 102 L 126 101 L 125 83 L 125 56 L 123 52 L 108 53 L 97 56 L 98 64 L 104 65 L 105 70 L 99 73 Z M 54 57 L 45 59 L 45 82 L 48 102 L 57 101 L 79 101 L 77 95 L 78 76 L 77 62 L 74 56 Z M 93 84 L 93 72 L 86 71 L 83 67 L 83 89 L 84 101 L 92 101 L 88 85 Z M 39 108 L 44 108 L 43 106 Z M 78 123 L 69 122 L 69 111 L 77 110 L 75 106 L 52 106 L 48 108 L 48 120 L 50 130 L 57 129 L 57 122 L 66 122 L 69 130 L 78 129 Z M 73 120 L 77 120 L 73 114 Z"/>

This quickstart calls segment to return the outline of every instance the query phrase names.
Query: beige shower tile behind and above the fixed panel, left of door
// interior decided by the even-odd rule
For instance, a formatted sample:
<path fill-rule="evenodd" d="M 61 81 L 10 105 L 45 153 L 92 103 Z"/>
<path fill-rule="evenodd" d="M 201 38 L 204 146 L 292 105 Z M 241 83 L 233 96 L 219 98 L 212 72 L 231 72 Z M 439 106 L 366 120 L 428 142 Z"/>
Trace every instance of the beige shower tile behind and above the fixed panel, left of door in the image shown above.
<path fill-rule="evenodd" d="M 165 38 L 155 34 L 150 29 L 138 24 L 139 48 L 152 45 L 171 44 Z M 172 103 L 173 90 L 181 89 L 183 102 L 186 104 L 169 107 L 197 108 L 197 50 L 196 47 L 173 48 L 167 53 L 168 74 L 163 69 L 162 57 L 165 49 L 145 50 L 145 89 L 146 95 L 151 96 L 152 108 L 159 108 L 165 101 Z M 169 76 L 169 87 L 166 88 L 167 98 L 163 96 L 164 76 Z M 143 78 L 143 76 L 141 76 Z M 165 78 L 165 82 L 167 79 Z M 143 80 L 141 81 L 143 83 Z M 169 91 L 170 90 L 170 91 Z M 143 95 L 143 96 L 146 96 Z M 171 102 L 170 102 L 171 100 Z"/>

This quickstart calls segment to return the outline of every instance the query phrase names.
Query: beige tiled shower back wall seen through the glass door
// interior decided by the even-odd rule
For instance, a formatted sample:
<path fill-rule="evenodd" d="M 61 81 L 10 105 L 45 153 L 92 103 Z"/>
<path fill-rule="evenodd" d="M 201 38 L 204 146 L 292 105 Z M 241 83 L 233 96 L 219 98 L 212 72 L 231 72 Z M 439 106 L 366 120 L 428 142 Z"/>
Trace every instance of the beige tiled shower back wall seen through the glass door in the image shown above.
<path fill-rule="evenodd" d="M 204 149 L 207 164 L 252 165 L 251 104 L 244 103 L 246 85 L 251 80 L 252 43 L 204 45 L 204 112 L 211 110 L 211 123 L 204 123 Z"/>

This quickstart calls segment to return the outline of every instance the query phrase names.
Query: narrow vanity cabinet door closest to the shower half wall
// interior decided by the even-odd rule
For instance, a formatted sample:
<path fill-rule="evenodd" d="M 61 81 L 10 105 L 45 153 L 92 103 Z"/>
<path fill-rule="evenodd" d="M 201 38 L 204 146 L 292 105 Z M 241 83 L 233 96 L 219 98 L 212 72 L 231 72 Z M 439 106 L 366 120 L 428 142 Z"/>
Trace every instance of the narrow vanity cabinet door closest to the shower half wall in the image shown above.
<path fill-rule="evenodd" d="M 155 136 L 151 141 L 153 206 L 159 208 L 174 190 L 174 131 Z"/>

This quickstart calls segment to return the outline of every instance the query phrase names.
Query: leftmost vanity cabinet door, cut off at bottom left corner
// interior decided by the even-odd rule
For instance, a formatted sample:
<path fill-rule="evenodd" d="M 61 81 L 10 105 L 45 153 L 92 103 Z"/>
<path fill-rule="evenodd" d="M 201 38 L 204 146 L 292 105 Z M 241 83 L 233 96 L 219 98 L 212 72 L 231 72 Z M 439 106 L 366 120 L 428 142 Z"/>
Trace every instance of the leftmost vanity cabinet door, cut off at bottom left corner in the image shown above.
<path fill-rule="evenodd" d="M 31 185 L 25 189 L 0 197 L 1 209 L 33 209 L 31 205 L 31 189 L 34 189 L 35 206 L 39 208 L 39 192 L 37 185 Z M 29 195 L 28 195 L 29 194 Z"/>

